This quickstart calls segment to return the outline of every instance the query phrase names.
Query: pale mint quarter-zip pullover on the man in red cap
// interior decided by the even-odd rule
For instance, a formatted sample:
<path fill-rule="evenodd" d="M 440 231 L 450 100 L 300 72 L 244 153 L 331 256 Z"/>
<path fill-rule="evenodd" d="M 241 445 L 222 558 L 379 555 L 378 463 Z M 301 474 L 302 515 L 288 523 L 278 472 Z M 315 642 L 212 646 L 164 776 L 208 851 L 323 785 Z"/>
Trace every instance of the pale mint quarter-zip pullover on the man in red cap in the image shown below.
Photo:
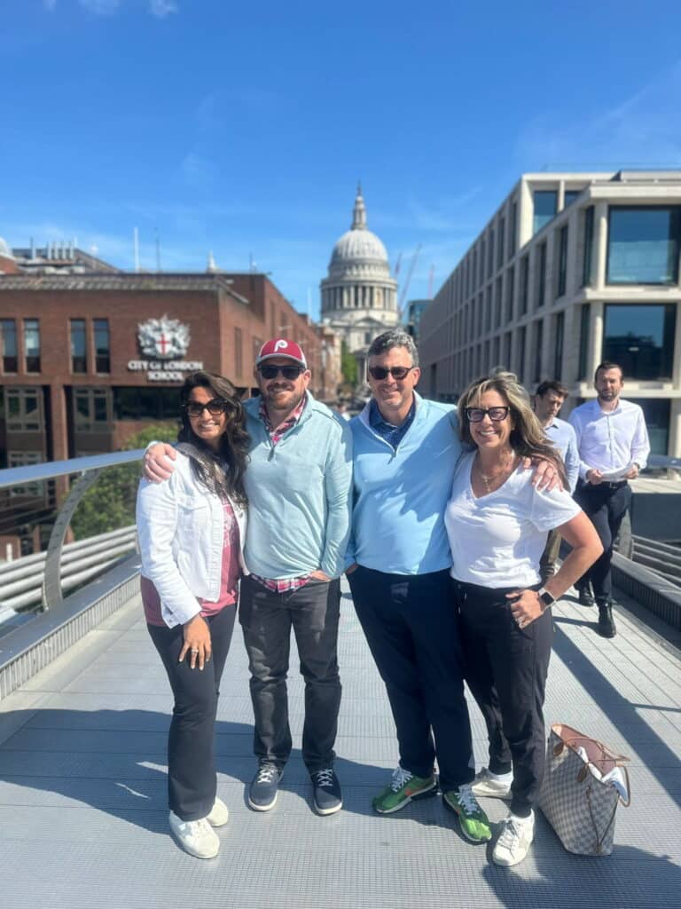
<path fill-rule="evenodd" d="M 245 474 L 249 570 L 281 579 L 321 568 L 338 577 L 350 533 L 350 425 L 341 425 L 308 392 L 298 423 L 272 445 L 258 415 L 260 398 L 244 407 L 251 436 Z"/>

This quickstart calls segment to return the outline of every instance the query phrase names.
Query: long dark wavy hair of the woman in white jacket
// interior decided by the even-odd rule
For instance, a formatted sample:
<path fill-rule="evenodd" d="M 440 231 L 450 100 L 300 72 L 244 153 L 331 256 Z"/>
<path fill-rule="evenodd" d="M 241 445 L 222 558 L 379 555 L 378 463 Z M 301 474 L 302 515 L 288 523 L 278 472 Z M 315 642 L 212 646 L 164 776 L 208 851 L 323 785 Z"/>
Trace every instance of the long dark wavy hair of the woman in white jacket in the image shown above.
<path fill-rule="evenodd" d="M 220 436 L 220 445 L 215 452 L 192 430 L 187 414 L 193 388 L 205 388 L 213 397 L 227 404 L 225 416 L 227 425 Z M 202 370 L 191 373 L 180 389 L 180 418 L 182 425 L 177 441 L 191 448 L 186 451 L 192 464 L 192 473 L 199 483 L 225 498 L 231 496 L 240 504 L 246 504 L 243 474 L 248 464 L 250 438 L 246 432 L 246 414 L 236 388 L 223 375 L 212 375 Z M 180 446 L 183 450 L 183 445 Z"/>

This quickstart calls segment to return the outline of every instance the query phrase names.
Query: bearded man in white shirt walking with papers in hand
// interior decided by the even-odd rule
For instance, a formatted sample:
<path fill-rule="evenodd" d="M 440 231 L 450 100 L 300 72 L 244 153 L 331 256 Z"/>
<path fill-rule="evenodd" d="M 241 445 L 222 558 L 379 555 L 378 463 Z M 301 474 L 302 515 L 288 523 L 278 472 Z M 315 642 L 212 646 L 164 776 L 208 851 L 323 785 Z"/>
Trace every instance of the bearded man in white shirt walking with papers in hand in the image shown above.
<path fill-rule="evenodd" d="M 581 580 L 591 582 L 598 606 L 598 634 L 614 637 L 612 617 L 612 547 L 631 504 L 629 480 L 646 466 L 650 443 L 641 408 L 619 395 L 624 387 L 621 366 L 601 363 L 594 386 L 597 398 L 576 407 L 569 416 L 577 435 L 579 478 L 575 498 L 593 521 L 603 554 Z M 580 596 L 584 602 L 584 596 Z"/>

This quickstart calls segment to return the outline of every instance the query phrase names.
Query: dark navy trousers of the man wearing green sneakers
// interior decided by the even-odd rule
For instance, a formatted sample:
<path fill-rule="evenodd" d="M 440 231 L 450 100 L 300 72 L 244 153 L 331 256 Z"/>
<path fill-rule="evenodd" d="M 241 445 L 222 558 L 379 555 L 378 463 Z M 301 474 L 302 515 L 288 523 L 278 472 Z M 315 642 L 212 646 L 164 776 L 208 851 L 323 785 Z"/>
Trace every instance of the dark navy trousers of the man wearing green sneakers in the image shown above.
<path fill-rule="evenodd" d="M 475 764 L 449 572 L 383 574 L 359 565 L 348 580 L 388 689 L 400 766 L 428 777 L 437 754 L 443 792 L 469 783 Z"/>

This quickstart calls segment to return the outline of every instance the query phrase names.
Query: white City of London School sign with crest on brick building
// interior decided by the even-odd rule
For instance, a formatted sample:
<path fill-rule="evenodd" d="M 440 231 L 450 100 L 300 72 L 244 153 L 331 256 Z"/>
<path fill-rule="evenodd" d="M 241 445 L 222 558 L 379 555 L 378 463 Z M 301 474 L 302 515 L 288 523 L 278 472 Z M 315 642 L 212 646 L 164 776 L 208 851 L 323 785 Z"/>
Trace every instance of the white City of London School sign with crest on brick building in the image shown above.
<path fill-rule="evenodd" d="M 129 360 L 128 369 L 134 373 L 146 373 L 150 382 L 183 382 L 185 373 L 203 368 L 201 360 L 183 360 L 192 336 L 189 325 L 179 319 L 147 319 L 137 325 L 137 340 L 140 350 L 148 359 Z"/>

